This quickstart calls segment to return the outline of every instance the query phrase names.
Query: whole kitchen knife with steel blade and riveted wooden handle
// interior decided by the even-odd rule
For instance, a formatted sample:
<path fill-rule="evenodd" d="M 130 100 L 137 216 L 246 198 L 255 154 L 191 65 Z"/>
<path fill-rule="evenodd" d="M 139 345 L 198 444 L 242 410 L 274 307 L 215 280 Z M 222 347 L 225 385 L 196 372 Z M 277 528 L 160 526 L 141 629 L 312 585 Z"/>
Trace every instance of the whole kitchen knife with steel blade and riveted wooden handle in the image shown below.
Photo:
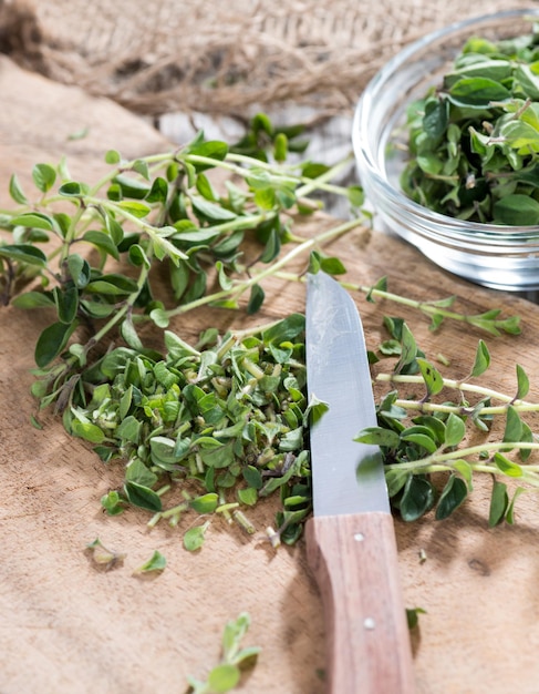
<path fill-rule="evenodd" d="M 376 426 L 369 359 L 352 297 L 308 275 L 307 387 L 329 409 L 311 427 L 314 516 L 309 564 L 324 605 L 328 692 L 412 694 L 412 652 L 380 449 L 353 440 Z"/>

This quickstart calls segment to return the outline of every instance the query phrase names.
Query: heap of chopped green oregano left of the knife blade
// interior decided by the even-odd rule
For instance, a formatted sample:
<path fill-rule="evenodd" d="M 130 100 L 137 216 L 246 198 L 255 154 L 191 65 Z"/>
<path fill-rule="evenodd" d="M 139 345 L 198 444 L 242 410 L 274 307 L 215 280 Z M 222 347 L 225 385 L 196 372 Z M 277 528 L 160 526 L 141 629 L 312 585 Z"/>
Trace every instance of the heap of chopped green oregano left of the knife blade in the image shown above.
<path fill-rule="evenodd" d="M 122 490 L 102 500 L 107 512 L 132 503 L 173 525 L 186 511 L 216 512 L 252 533 L 242 509 L 280 491 L 271 539 L 293 542 L 311 508 L 303 329 L 292 314 L 201 350 L 167 330 L 165 358 L 118 347 L 85 374 L 92 399 L 65 410 L 64 425 L 103 460 L 128 461 Z M 178 486 L 184 499 L 165 510 L 162 494 Z"/>

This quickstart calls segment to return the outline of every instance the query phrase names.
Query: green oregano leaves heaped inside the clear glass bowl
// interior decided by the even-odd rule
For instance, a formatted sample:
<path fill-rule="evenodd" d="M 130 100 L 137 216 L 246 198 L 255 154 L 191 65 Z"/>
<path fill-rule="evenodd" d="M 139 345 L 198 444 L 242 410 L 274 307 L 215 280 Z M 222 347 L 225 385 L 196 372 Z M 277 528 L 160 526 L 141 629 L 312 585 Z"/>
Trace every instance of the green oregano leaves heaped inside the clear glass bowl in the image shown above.
<path fill-rule="evenodd" d="M 539 33 L 470 38 L 410 105 L 403 191 L 444 215 L 539 224 Z"/>

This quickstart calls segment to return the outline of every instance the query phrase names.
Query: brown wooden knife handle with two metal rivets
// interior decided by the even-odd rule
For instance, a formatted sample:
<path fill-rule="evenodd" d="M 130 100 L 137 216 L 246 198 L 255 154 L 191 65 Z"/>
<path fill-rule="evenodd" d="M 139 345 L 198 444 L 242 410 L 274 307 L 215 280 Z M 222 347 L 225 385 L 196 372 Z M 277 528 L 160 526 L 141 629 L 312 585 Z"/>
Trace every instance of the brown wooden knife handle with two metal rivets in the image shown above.
<path fill-rule="evenodd" d="M 319 516 L 307 550 L 328 632 L 328 694 L 413 694 L 393 518 Z"/>

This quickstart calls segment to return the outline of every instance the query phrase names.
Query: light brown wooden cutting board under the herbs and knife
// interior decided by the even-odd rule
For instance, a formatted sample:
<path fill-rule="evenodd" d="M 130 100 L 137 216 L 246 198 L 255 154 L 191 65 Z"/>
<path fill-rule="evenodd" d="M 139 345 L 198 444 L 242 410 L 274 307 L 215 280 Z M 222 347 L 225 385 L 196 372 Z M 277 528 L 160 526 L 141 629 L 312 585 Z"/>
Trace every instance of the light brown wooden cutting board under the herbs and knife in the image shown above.
<path fill-rule="evenodd" d="M 0 59 L 0 207 L 10 205 L 10 174 L 24 184 L 37 162 L 55 163 L 65 154 L 74 176 L 94 181 L 110 147 L 128 157 L 167 147 L 117 105 L 23 72 L 7 59 Z M 82 129 L 84 139 L 70 139 Z M 370 348 L 384 337 L 383 315 L 402 316 L 427 356 L 443 353 L 450 366 L 442 370 L 459 378 L 485 337 L 489 385 L 515 391 L 518 361 L 532 382 L 528 399 L 539 399 L 536 305 L 460 282 L 380 233 L 369 243 L 346 238 L 335 249 L 349 258 L 351 282 L 369 285 L 387 275 L 390 288 L 405 296 L 456 295 L 458 310 L 502 307 L 522 317 L 518 338 L 489 338 L 456 323 L 431 333 L 417 312 L 357 295 Z M 268 295 L 262 319 L 303 310 L 301 286 L 274 283 Z M 303 542 L 274 552 L 214 523 L 203 550 L 188 553 L 179 529 L 148 532 L 146 517 L 134 511 L 104 517 L 99 500 L 118 484 L 122 470 L 70 439 L 52 415 L 44 417 L 43 431 L 30 426 L 29 369 L 46 319 L 0 309 L 0 692 L 183 693 L 188 675 L 203 677 L 217 663 L 225 623 L 247 611 L 252 625 L 246 645 L 262 651 L 241 691 L 322 694 L 324 625 Z M 240 323 L 236 314 L 207 312 L 175 327 L 190 338 L 204 326 Z M 537 427 L 537 418 L 530 423 Z M 537 498 L 520 498 L 516 525 L 489 529 L 489 480 L 477 481 L 470 500 L 447 521 L 395 521 L 406 605 L 426 610 L 413 634 L 418 694 L 539 692 Z M 273 509 L 260 504 L 252 520 L 262 532 Z M 123 565 L 95 571 L 84 548 L 97 537 L 125 553 Z M 154 550 L 165 554 L 167 569 L 153 580 L 135 578 L 134 569 Z"/>

